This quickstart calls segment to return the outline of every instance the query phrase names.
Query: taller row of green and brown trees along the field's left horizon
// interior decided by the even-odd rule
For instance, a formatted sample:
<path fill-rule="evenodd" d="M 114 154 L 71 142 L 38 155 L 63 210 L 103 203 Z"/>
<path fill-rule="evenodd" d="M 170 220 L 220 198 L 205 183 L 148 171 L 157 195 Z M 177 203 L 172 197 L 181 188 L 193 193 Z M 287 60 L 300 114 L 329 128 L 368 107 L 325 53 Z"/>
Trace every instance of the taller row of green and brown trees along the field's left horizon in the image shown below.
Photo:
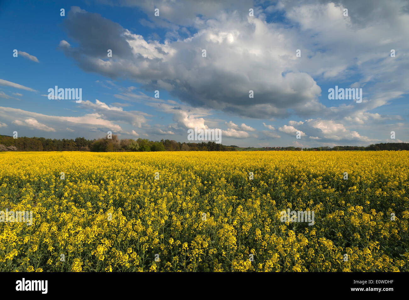
<path fill-rule="evenodd" d="M 236 151 L 236 148 L 215 142 L 180 143 L 169 139 L 150 141 L 148 139 L 111 138 L 88 140 L 45 139 L 43 137 L 13 137 L 0 135 L 0 152 L 2 151 L 92 151 L 92 152 L 149 152 L 149 151 Z"/>

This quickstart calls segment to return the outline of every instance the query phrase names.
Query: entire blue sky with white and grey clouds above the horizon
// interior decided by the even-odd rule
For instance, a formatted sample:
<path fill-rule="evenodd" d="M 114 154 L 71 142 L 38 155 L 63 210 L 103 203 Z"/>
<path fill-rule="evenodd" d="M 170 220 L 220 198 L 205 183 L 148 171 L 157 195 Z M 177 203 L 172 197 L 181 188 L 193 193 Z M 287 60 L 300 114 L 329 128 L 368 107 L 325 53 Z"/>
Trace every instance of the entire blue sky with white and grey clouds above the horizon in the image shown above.
<path fill-rule="evenodd" d="M 0 134 L 183 142 L 198 127 L 238 146 L 409 141 L 406 1 L 6 0 L 0 26 Z M 82 102 L 48 99 L 55 85 L 81 88 Z M 362 102 L 328 99 L 336 85 L 362 88 Z"/>

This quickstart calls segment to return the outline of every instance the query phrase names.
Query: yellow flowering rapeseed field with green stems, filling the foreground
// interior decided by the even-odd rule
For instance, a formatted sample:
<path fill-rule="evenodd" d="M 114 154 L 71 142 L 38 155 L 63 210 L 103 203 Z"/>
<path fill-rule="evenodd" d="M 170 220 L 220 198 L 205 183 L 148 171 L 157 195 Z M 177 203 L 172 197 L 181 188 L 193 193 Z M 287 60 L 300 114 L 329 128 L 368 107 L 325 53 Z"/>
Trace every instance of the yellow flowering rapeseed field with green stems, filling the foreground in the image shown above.
<path fill-rule="evenodd" d="M 31 226 L 0 223 L 0 271 L 409 271 L 407 151 L 5 152 L 0 163 L 0 210 L 33 213 Z M 282 222 L 288 209 L 314 224 Z"/>

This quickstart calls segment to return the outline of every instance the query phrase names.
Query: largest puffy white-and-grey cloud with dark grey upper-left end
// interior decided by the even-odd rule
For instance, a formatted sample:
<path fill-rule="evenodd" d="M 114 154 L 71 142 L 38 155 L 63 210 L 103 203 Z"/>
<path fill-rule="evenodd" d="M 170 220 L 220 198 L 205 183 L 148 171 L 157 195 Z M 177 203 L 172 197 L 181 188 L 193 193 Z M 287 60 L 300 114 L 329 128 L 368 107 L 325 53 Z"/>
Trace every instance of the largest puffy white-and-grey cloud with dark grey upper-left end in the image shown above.
<path fill-rule="evenodd" d="M 286 72 L 292 50 L 282 28 L 257 18 L 242 22 L 238 12 L 221 12 L 192 37 L 163 44 L 78 7 L 67 14 L 64 28 L 78 47 L 63 51 L 82 69 L 166 89 L 192 106 L 270 118 L 304 107 L 321 92 L 307 73 Z M 204 44 L 207 58 L 201 57 Z M 106 59 L 110 45 L 116 45 L 115 60 Z"/>

